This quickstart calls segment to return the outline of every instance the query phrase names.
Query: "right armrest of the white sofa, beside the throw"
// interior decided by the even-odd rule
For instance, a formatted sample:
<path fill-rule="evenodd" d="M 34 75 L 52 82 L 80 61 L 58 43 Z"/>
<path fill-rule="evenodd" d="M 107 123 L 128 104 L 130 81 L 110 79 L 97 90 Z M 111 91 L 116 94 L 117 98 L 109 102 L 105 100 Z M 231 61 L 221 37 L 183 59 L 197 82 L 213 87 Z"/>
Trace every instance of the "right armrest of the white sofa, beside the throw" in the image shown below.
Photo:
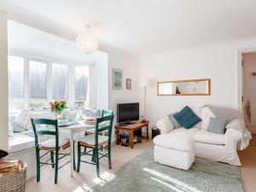
<path fill-rule="evenodd" d="M 225 147 L 231 151 L 236 151 L 237 143 L 241 141 L 241 131 L 227 129 L 225 132 Z"/>

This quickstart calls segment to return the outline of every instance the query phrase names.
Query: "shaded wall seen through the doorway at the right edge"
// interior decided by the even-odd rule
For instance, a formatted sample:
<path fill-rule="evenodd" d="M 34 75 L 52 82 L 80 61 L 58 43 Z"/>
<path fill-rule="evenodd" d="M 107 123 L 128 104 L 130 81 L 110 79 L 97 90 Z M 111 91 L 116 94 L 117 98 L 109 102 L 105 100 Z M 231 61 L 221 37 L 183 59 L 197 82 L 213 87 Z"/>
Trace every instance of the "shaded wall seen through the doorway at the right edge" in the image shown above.
<path fill-rule="evenodd" d="M 244 61 L 244 100 L 245 105 L 250 101 L 251 105 L 251 120 L 249 123 L 246 118 L 247 127 L 253 133 L 256 132 L 256 77 L 252 73 L 256 73 L 256 53 L 242 55 Z M 247 117 L 247 116 L 246 116 Z"/>

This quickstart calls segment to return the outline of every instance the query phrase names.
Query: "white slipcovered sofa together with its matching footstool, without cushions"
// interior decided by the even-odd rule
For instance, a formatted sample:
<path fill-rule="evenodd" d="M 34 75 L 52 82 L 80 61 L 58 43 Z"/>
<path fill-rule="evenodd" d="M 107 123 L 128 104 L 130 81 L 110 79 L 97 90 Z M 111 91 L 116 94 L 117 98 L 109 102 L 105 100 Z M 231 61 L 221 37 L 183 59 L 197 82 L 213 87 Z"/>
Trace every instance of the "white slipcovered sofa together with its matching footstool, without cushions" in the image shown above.
<path fill-rule="evenodd" d="M 173 112 L 178 112 L 180 109 L 173 109 Z M 236 152 L 241 141 L 241 131 L 227 129 L 224 134 L 206 131 L 210 118 L 214 118 L 215 115 L 208 107 L 192 107 L 192 110 L 201 117 L 202 121 L 189 130 L 183 127 L 174 129 L 167 116 L 157 122 L 161 134 L 154 137 L 154 160 L 184 170 L 189 169 L 195 156 L 241 166 Z M 193 157 L 191 155 L 194 151 Z"/>

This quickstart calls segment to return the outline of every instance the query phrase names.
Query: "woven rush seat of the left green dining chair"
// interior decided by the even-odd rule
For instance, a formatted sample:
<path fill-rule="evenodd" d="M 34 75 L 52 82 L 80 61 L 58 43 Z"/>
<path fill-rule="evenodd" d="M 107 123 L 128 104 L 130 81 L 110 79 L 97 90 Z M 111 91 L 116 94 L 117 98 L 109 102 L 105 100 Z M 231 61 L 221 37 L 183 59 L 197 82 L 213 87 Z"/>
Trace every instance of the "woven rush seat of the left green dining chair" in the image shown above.
<path fill-rule="evenodd" d="M 54 150 L 55 149 L 55 138 L 51 138 L 45 142 L 38 143 L 41 150 Z M 68 138 L 59 138 L 59 148 L 68 148 L 70 146 Z"/>

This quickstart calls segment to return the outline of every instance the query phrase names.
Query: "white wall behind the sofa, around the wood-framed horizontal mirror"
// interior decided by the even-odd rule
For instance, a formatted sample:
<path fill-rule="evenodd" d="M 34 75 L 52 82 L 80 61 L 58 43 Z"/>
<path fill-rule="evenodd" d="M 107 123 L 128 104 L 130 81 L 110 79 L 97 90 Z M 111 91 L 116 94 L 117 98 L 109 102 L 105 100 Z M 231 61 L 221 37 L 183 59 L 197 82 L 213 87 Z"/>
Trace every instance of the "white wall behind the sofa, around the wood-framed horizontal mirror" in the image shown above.
<path fill-rule="evenodd" d="M 143 57 L 139 76 L 154 80 L 148 91 L 148 116 L 151 126 L 172 111 L 173 106 L 214 104 L 240 108 L 239 51 L 256 47 L 256 38 L 178 50 Z M 212 79 L 212 96 L 157 96 L 156 82 L 181 79 Z M 143 95 L 139 94 L 140 101 Z"/>

